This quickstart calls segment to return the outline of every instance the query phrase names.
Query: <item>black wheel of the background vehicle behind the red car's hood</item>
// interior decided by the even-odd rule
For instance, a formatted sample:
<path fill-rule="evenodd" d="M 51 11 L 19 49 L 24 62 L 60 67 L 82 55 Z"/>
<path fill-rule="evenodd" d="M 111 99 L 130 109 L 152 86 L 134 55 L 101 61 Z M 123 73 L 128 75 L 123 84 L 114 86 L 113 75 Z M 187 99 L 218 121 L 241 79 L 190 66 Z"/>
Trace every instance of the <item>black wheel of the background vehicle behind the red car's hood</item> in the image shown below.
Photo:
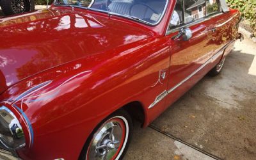
<path fill-rule="evenodd" d="M 4 15 L 14 15 L 35 10 L 34 0 L 0 0 Z"/>

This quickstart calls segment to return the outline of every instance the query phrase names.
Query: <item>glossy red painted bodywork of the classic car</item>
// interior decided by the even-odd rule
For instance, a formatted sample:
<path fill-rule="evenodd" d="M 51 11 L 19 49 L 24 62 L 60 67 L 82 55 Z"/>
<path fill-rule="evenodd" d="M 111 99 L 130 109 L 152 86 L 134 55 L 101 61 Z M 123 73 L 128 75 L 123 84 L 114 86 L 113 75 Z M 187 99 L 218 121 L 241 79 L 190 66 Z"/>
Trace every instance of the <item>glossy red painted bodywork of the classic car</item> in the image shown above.
<path fill-rule="evenodd" d="M 166 35 L 174 5 L 157 26 L 63 6 L 1 19 L 1 104 L 33 129 L 19 156 L 77 159 L 93 129 L 117 109 L 140 102 L 145 127 L 211 70 L 234 45 L 239 13 L 198 22 L 191 40 L 175 41 L 177 32 Z"/>

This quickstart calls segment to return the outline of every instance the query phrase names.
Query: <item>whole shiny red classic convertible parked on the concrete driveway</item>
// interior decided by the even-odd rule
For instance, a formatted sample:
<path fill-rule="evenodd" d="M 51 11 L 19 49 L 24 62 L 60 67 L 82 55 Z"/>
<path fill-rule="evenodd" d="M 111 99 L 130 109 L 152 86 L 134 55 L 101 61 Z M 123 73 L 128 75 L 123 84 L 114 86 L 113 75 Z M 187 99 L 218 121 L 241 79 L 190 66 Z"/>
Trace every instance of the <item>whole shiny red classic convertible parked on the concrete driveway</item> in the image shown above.
<path fill-rule="evenodd" d="M 240 13 L 221 0 L 56 0 L 0 19 L 0 147 L 21 159 L 122 159 L 205 74 Z"/>

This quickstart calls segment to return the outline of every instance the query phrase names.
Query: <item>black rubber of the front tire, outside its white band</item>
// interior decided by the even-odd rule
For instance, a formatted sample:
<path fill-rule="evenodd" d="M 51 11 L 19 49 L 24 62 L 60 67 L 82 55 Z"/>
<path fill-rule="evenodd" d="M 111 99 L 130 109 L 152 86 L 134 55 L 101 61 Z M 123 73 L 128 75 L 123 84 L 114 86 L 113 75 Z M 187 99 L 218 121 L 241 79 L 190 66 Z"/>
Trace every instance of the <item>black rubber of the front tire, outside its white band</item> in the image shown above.
<path fill-rule="evenodd" d="M 99 130 L 99 128 L 104 123 L 106 123 L 108 120 L 110 120 L 111 118 L 120 117 L 120 116 L 124 117 L 125 120 L 127 120 L 127 124 L 128 124 L 128 127 L 129 127 L 129 133 L 127 135 L 127 141 L 126 141 L 126 143 L 124 143 L 125 146 L 122 145 L 122 148 L 121 148 L 121 151 L 120 151 L 120 152 L 122 152 L 122 154 L 119 156 L 119 153 L 118 153 L 118 156 L 119 156 L 118 159 L 122 159 L 124 157 L 125 152 L 127 151 L 127 148 L 129 147 L 129 143 L 131 142 L 132 132 L 133 132 L 133 124 L 132 124 L 132 119 L 131 119 L 131 116 L 129 115 L 129 113 L 127 113 L 127 111 L 121 109 L 121 110 L 118 110 L 115 113 L 109 115 L 104 120 L 102 120 L 102 122 L 100 122 L 100 124 L 97 125 L 97 127 L 95 127 L 95 129 L 93 129 L 92 134 L 90 134 L 88 140 L 86 140 L 86 143 L 84 144 L 83 150 L 81 151 L 81 154 L 79 156 L 80 160 L 82 160 L 82 159 L 85 160 L 86 159 L 86 154 L 87 154 L 88 148 L 90 147 L 90 143 L 93 139 L 94 134 Z"/>

